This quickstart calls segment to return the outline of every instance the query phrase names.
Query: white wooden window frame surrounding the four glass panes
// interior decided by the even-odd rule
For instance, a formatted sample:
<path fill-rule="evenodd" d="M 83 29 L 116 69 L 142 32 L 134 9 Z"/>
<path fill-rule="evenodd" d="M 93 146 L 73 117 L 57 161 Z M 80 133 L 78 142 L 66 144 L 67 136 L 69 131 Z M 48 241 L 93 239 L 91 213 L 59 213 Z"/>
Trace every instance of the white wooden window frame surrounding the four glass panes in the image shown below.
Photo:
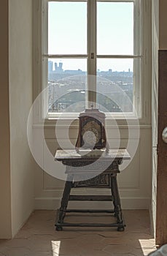
<path fill-rule="evenodd" d="M 87 55 L 52 55 L 47 54 L 47 1 L 54 0 L 34 0 L 34 99 L 44 89 L 44 84 L 47 84 L 47 58 L 85 58 Z M 63 1 L 63 0 L 59 0 Z M 64 1 L 76 1 L 76 0 L 64 0 Z M 85 0 L 81 0 L 85 1 Z M 101 0 L 111 1 L 111 0 Z M 135 70 L 138 69 L 140 75 L 134 77 L 134 89 L 133 89 L 133 102 L 137 115 L 141 124 L 150 123 L 150 86 L 151 86 L 151 36 L 148 33 L 151 29 L 151 0 L 112 0 L 116 2 L 133 2 L 134 3 L 134 55 L 133 56 L 121 56 L 121 55 L 96 55 L 96 26 L 91 28 L 91 39 L 88 43 L 88 56 L 91 53 L 97 58 L 129 58 L 129 59 L 141 59 L 141 64 L 134 66 Z M 90 4 L 91 2 L 91 4 Z M 93 6 L 94 4 L 94 6 Z M 96 19 L 96 0 L 88 0 L 88 20 Z M 89 15 L 91 13 L 91 15 Z M 93 23 L 93 22 L 91 22 Z M 136 34 L 135 34 L 136 33 Z M 90 29 L 88 27 L 88 37 L 90 35 Z M 43 43 L 42 43 L 43 42 Z M 138 53 L 136 54 L 136 50 Z M 92 62 L 94 64 L 92 65 Z M 135 63 L 135 61 L 134 61 Z M 94 67 L 94 68 L 93 68 Z M 96 76 L 96 58 L 88 58 L 88 75 Z M 96 84 L 96 83 L 95 83 Z M 139 85 L 139 86 L 137 86 Z M 95 88 L 94 88 L 95 89 Z M 89 88 L 88 88 L 89 90 Z M 47 95 L 45 95 L 47 97 Z M 88 100 L 94 101 L 91 98 Z M 89 108 L 90 106 L 88 106 Z M 38 108 L 39 120 L 42 119 L 42 110 L 46 110 L 47 101 L 42 99 L 42 104 Z M 62 113 L 48 113 L 48 119 L 56 119 Z M 77 117 L 78 113 L 64 113 L 64 118 Z M 107 113 L 106 113 L 107 116 Z M 116 119 L 124 119 L 122 113 L 112 113 L 112 116 Z M 133 118 L 133 113 L 126 113 L 126 117 Z"/>

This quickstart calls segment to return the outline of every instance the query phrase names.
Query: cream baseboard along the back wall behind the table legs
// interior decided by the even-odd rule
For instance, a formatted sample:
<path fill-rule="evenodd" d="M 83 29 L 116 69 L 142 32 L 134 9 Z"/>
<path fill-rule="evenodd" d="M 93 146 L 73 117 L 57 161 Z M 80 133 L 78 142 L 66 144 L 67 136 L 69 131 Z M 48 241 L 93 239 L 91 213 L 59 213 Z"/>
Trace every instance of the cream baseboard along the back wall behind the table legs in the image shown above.
<path fill-rule="evenodd" d="M 61 198 L 58 197 L 36 197 L 35 209 L 56 210 L 60 207 Z M 150 197 L 122 197 L 121 207 L 123 209 L 149 209 Z M 69 208 L 111 208 L 110 202 L 69 202 Z"/>

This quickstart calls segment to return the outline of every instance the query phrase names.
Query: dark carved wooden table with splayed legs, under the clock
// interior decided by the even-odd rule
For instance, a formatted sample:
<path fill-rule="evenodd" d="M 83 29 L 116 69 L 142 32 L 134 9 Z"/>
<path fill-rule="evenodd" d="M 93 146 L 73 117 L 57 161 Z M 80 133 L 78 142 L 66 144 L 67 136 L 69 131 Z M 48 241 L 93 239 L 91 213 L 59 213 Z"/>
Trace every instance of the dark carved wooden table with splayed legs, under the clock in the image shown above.
<path fill-rule="evenodd" d="M 61 208 L 58 211 L 56 220 L 56 230 L 63 227 L 117 227 L 118 231 L 123 231 L 125 223 L 120 206 L 120 195 L 117 187 L 117 173 L 120 173 L 119 165 L 123 160 L 130 159 L 126 149 L 110 149 L 109 151 L 90 151 L 88 154 L 79 154 L 75 150 L 58 150 L 55 159 L 66 165 L 67 180 L 61 200 Z M 71 188 L 77 187 L 108 187 L 111 195 L 70 195 Z M 67 209 L 69 200 L 92 200 L 92 201 L 113 201 L 114 209 L 106 210 L 81 210 Z M 104 223 L 68 223 L 64 222 L 66 212 L 82 213 L 109 213 L 114 214 L 116 222 Z"/>

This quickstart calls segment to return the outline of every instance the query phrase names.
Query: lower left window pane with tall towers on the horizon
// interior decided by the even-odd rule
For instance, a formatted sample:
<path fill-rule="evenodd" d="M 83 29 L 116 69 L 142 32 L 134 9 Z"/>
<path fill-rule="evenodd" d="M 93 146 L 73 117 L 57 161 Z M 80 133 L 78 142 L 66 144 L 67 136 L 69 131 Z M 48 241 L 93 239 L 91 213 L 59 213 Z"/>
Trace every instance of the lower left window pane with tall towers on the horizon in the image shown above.
<path fill-rule="evenodd" d="M 85 108 L 87 59 L 49 59 L 48 111 L 81 112 Z"/>

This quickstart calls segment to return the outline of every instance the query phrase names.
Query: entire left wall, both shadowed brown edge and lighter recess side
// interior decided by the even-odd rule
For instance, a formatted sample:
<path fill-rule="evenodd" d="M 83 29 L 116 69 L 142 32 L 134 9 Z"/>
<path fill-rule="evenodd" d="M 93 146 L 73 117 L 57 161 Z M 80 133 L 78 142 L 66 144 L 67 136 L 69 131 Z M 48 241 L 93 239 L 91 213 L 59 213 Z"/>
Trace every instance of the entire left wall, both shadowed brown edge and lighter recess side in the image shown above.
<path fill-rule="evenodd" d="M 32 103 L 32 1 L 0 8 L 0 238 L 12 238 L 34 209 L 26 122 Z"/>

